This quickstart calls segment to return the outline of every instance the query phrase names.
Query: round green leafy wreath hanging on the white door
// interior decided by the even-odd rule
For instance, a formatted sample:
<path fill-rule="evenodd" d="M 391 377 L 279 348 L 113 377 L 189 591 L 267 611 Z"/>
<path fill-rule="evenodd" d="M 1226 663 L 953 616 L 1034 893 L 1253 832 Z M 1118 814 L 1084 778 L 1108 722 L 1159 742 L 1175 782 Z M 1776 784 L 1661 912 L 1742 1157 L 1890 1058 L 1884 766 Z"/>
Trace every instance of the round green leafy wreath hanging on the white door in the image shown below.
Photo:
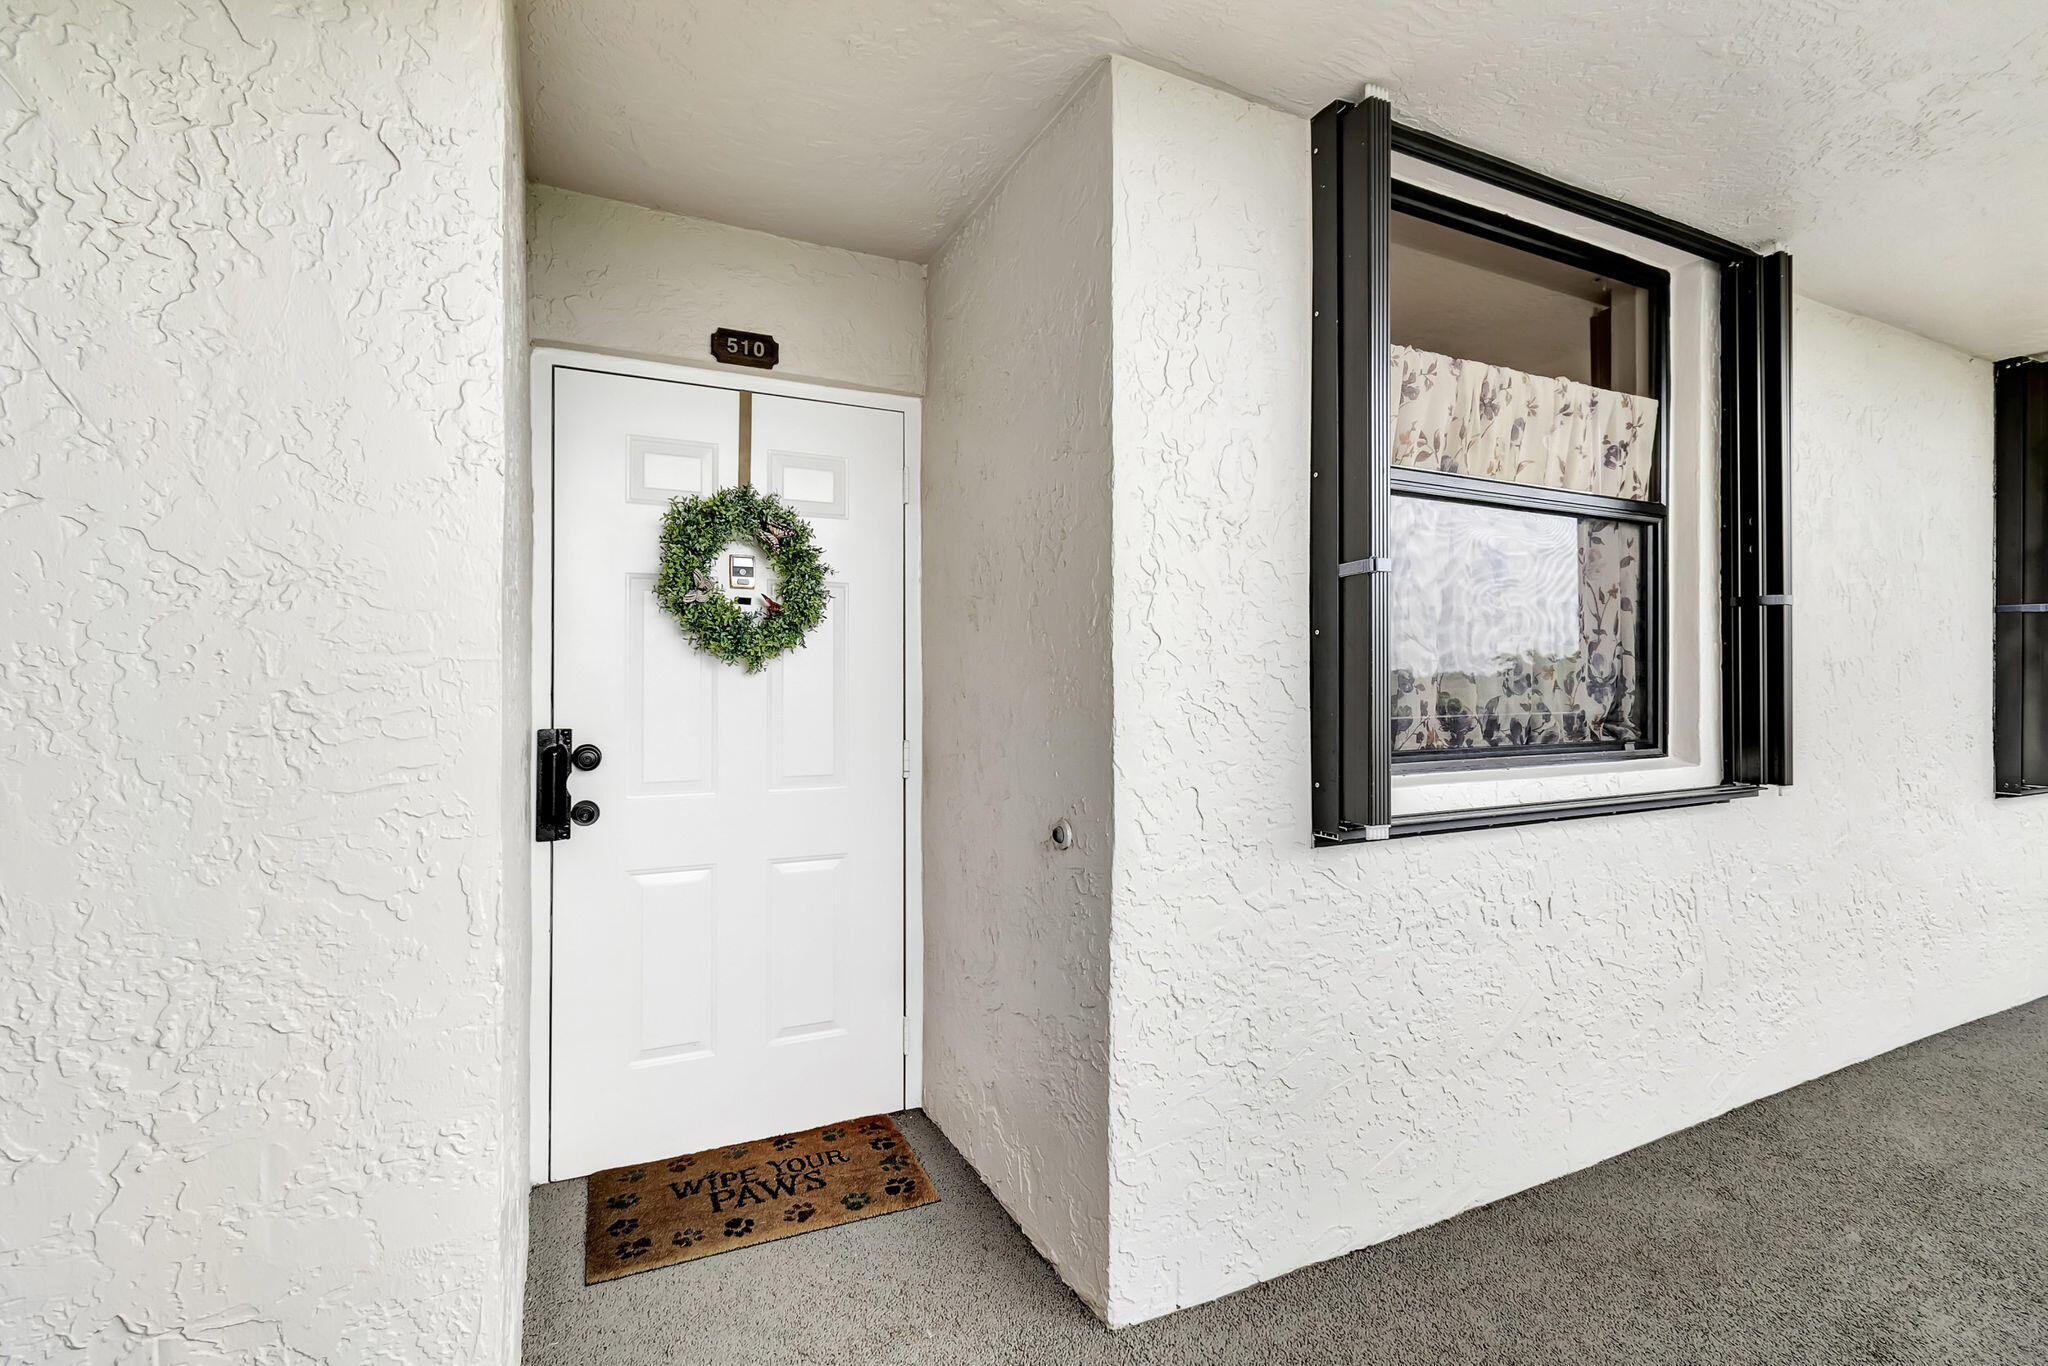
<path fill-rule="evenodd" d="M 760 612 L 725 596 L 713 578 L 719 553 L 733 541 L 758 547 L 776 571 L 780 600 L 758 592 Z M 743 664 L 760 674 L 776 655 L 803 645 L 825 618 L 831 571 L 817 557 L 811 524 L 774 494 L 752 483 L 723 487 L 709 498 L 672 498 L 662 516 L 662 578 L 653 596 L 696 647 L 715 659 Z"/>

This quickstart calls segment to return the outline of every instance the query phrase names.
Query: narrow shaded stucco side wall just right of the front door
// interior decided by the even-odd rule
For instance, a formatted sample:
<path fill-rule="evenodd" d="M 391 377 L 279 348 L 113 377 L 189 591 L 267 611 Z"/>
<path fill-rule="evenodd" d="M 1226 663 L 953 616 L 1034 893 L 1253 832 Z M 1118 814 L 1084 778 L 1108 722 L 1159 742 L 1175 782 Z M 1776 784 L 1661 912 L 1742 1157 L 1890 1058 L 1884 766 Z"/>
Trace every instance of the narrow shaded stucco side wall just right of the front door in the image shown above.
<path fill-rule="evenodd" d="M 1110 100 L 1083 86 L 932 266 L 924 1104 L 1106 1305 Z M 1059 852 L 1061 815 L 1077 846 Z"/>

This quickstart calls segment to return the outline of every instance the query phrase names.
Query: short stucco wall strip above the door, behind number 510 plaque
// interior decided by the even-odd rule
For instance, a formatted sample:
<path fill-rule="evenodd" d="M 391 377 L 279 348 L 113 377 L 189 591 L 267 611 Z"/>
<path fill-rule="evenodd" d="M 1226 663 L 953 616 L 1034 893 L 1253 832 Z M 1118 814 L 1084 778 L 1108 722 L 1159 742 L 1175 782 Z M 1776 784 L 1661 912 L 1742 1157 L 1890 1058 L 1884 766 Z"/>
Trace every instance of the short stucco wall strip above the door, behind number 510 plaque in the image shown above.
<path fill-rule="evenodd" d="M 713 365 L 717 328 L 772 332 L 784 379 L 924 393 L 924 266 L 528 188 L 535 342 Z"/>

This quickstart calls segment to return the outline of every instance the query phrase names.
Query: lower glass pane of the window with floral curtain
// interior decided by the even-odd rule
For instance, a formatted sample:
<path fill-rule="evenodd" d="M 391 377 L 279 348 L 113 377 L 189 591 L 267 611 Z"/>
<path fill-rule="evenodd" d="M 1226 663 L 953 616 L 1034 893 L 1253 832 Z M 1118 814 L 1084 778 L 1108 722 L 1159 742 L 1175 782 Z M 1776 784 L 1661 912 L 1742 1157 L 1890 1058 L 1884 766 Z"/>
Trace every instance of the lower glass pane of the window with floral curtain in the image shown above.
<path fill-rule="evenodd" d="M 1642 528 L 1393 500 L 1395 754 L 1645 735 Z"/>

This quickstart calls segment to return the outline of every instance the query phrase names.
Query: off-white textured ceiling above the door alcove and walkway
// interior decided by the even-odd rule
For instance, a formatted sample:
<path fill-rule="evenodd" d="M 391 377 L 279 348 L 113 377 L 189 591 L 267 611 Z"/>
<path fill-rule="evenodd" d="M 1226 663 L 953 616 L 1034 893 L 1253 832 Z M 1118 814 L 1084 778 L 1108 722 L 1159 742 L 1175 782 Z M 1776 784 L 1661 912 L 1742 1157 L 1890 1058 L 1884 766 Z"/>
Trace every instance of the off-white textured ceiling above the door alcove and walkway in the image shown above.
<path fill-rule="evenodd" d="M 526 0 L 535 180 L 926 260 L 1104 53 L 1397 117 L 2048 350 L 2042 0 Z"/>

